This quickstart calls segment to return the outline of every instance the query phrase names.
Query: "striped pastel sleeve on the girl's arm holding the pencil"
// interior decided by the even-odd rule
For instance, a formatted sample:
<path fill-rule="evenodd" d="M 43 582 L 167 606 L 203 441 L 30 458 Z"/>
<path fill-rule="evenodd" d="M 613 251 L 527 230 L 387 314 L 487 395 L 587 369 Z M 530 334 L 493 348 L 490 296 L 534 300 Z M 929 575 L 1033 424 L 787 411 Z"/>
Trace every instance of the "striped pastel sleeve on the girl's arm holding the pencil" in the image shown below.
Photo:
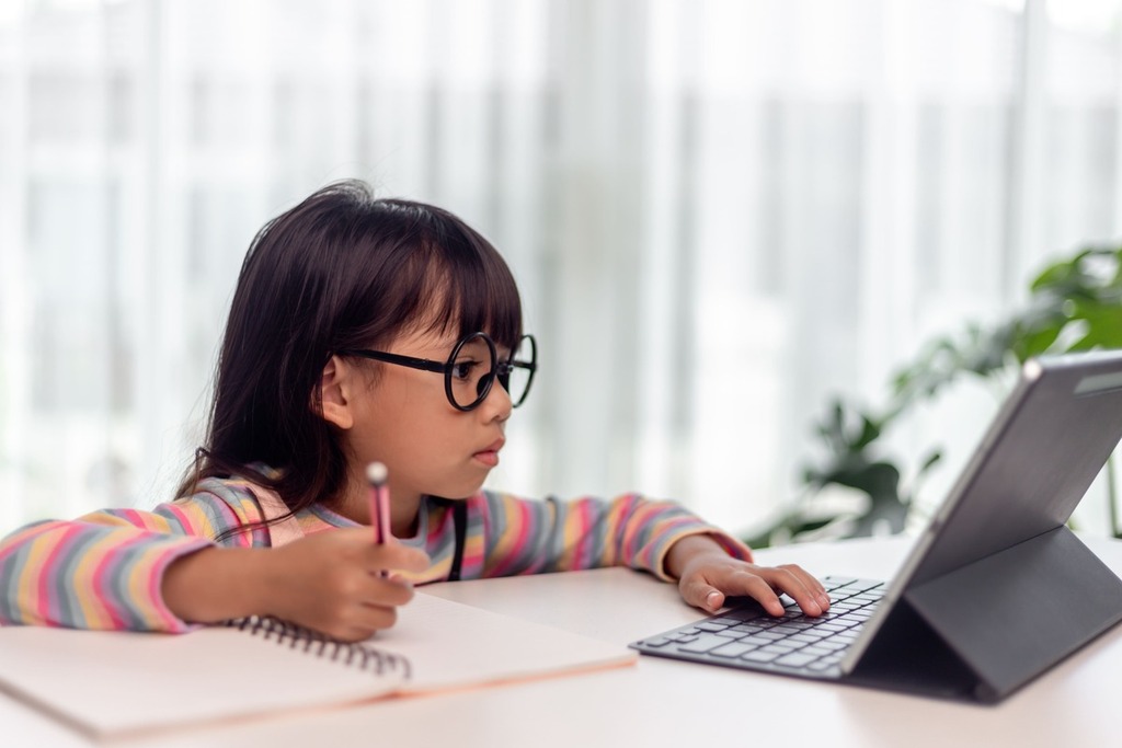
<path fill-rule="evenodd" d="M 0 624 L 187 630 L 164 604 L 164 571 L 260 519 L 251 493 L 226 486 L 153 511 L 105 509 L 28 525 L 0 541 Z M 234 533 L 222 544 L 268 545 L 268 534 Z"/>

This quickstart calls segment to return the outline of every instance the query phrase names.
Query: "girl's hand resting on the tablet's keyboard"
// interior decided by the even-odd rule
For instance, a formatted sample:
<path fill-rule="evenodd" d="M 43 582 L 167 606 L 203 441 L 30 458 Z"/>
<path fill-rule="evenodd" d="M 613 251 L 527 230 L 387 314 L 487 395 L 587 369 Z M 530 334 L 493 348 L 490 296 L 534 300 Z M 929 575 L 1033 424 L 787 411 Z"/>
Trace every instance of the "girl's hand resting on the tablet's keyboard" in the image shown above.
<path fill-rule="evenodd" d="M 779 594 L 783 592 L 808 616 L 821 616 L 830 608 L 826 588 L 801 566 L 757 566 L 739 561 L 705 535 L 674 543 L 666 554 L 666 571 L 678 578 L 682 599 L 708 612 L 720 609 L 726 595 L 736 594 L 754 598 L 772 616 L 782 616 Z"/>

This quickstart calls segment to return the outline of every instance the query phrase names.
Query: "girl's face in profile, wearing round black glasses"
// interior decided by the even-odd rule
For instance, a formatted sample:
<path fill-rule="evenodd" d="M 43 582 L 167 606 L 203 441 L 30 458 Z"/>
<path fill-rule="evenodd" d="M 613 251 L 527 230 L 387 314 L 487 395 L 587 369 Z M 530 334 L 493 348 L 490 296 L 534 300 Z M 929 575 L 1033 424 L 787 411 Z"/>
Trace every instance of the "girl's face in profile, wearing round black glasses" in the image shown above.
<path fill-rule="evenodd" d="M 444 362 L 457 342 L 454 333 L 414 332 L 381 350 Z M 486 347 L 478 348 L 482 355 L 463 351 L 458 361 L 479 360 L 486 370 Z M 509 350 L 497 348 L 497 353 L 504 360 Z M 449 403 L 443 375 L 377 366 L 376 376 L 359 377 L 361 384 L 351 388 L 353 424 L 343 437 L 351 474 L 364 475 L 367 463 L 384 462 L 395 506 L 415 506 L 422 495 L 458 499 L 476 493 L 498 464 L 511 417 L 506 389 L 495 381 L 475 409 L 463 412 Z M 462 388 L 456 381 L 453 388 Z"/>

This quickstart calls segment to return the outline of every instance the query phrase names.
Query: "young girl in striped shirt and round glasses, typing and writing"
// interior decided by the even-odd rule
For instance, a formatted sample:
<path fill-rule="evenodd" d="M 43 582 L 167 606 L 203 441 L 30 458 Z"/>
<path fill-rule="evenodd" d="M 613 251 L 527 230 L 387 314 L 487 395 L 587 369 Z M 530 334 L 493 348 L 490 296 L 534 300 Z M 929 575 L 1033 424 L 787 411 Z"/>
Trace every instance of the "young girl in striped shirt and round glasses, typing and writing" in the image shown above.
<path fill-rule="evenodd" d="M 42 521 L 0 542 L 0 622 L 186 631 L 270 615 L 355 640 L 413 583 L 626 564 L 707 611 L 829 607 L 681 507 L 481 491 L 536 370 L 498 252 L 447 211 L 331 185 L 249 248 L 206 446 L 182 498 Z M 366 465 L 388 468 L 396 542 L 371 542 Z M 388 576 L 381 573 L 393 570 Z"/>

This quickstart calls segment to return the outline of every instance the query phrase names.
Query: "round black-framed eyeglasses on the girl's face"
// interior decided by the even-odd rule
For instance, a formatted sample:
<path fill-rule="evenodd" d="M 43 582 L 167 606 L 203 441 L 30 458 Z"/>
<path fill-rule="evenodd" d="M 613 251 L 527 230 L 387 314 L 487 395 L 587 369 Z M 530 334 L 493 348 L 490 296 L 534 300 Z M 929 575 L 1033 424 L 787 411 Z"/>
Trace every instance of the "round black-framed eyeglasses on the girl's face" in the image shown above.
<path fill-rule="evenodd" d="M 457 410 L 478 407 L 487 399 L 496 379 L 511 396 L 511 405 L 518 407 L 530 394 L 530 385 L 537 371 L 537 343 L 533 335 L 523 335 L 511 355 L 502 360 L 496 352 L 495 341 L 485 332 L 473 332 L 461 338 L 444 363 L 365 349 L 339 351 L 339 355 L 358 355 L 383 363 L 442 373 L 444 394 Z"/>

